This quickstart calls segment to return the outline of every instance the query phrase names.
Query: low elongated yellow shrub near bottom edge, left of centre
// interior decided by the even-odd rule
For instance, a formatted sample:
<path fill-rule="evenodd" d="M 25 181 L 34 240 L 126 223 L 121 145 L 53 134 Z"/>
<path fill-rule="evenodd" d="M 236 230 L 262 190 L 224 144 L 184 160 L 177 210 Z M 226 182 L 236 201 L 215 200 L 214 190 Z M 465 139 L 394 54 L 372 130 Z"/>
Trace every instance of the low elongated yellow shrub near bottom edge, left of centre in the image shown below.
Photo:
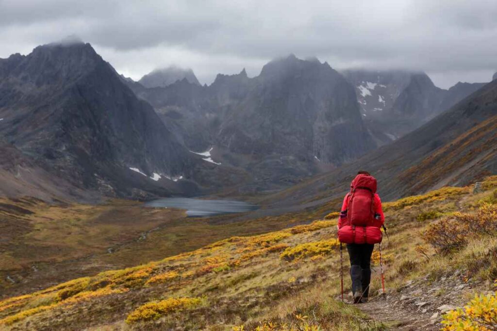
<path fill-rule="evenodd" d="M 192 309 L 201 303 L 202 299 L 199 298 L 168 298 L 159 302 L 150 302 L 138 307 L 129 314 L 126 318 L 126 323 L 133 324 L 138 321 L 157 320 L 165 314 Z"/>

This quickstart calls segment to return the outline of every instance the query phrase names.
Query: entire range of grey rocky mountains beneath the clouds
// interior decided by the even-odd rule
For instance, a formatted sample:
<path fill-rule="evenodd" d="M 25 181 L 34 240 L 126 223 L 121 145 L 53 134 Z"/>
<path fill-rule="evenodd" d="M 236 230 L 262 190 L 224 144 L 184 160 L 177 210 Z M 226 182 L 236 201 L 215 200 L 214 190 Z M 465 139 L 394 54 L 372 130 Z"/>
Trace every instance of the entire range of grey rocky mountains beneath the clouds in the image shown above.
<path fill-rule="evenodd" d="M 51 177 L 64 182 L 38 185 L 42 196 L 61 190 L 133 199 L 244 195 L 320 173 L 337 180 L 330 171 L 351 169 L 384 148 L 395 151 L 386 162 L 398 155 L 403 166 L 414 165 L 415 153 L 402 142 L 420 141 L 419 133 L 409 132 L 441 125 L 432 119 L 484 85 L 444 90 L 422 72 L 338 72 L 294 55 L 269 62 L 255 77 L 245 69 L 218 74 L 211 85 L 176 67 L 135 82 L 89 44 L 49 44 L 0 59 L 0 138 L 2 148 L 43 172 L 47 183 Z M 454 126 L 462 134 L 473 122 Z M 435 142 L 419 157 L 448 142 L 423 135 Z M 32 193 L 29 181 L 15 174 L 19 166 L 4 164 L 2 171 L 10 174 L 5 187 L 16 188 L 9 192 Z M 392 197 L 414 192 L 396 188 Z"/>

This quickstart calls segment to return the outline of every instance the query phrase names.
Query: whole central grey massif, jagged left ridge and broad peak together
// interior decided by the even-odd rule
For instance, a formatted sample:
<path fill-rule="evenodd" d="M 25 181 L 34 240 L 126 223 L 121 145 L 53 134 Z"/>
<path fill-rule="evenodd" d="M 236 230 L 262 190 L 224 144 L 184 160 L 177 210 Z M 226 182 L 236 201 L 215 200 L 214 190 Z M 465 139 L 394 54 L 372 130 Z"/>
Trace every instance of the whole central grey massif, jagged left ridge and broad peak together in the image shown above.
<path fill-rule="evenodd" d="M 257 77 L 244 69 L 219 74 L 210 86 L 186 79 L 163 88 L 129 86 L 189 149 L 216 146 L 219 160 L 248 171 L 256 188 L 295 183 L 376 147 L 353 86 L 317 59 L 292 55 Z"/>

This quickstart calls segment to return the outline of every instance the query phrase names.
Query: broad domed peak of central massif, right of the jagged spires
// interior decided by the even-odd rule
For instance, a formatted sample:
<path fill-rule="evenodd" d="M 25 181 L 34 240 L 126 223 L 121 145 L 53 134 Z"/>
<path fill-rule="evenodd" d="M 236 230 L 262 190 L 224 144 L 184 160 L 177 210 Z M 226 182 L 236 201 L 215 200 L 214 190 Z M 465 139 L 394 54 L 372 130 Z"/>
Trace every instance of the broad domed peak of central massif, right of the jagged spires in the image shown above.
<path fill-rule="evenodd" d="M 254 80 L 221 126 L 219 142 L 230 150 L 339 165 L 375 147 L 352 86 L 327 63 L 290 56 L 268 63 Z"/>

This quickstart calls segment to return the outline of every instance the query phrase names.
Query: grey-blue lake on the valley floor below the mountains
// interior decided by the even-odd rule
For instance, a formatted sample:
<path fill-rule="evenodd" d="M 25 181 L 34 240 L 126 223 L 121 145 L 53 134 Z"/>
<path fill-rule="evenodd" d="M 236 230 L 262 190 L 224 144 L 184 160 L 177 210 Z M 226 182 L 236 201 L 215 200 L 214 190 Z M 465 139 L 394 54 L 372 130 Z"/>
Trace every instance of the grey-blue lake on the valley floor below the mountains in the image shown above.
<path fill-rule="evenodd" d="M 150 207 L 186 209 L 190 217 L 213 216 L 258 209 L 258 206 L 234 200 L 201 200 L 190 198 L 164 198 L 147 202 Z"/>

